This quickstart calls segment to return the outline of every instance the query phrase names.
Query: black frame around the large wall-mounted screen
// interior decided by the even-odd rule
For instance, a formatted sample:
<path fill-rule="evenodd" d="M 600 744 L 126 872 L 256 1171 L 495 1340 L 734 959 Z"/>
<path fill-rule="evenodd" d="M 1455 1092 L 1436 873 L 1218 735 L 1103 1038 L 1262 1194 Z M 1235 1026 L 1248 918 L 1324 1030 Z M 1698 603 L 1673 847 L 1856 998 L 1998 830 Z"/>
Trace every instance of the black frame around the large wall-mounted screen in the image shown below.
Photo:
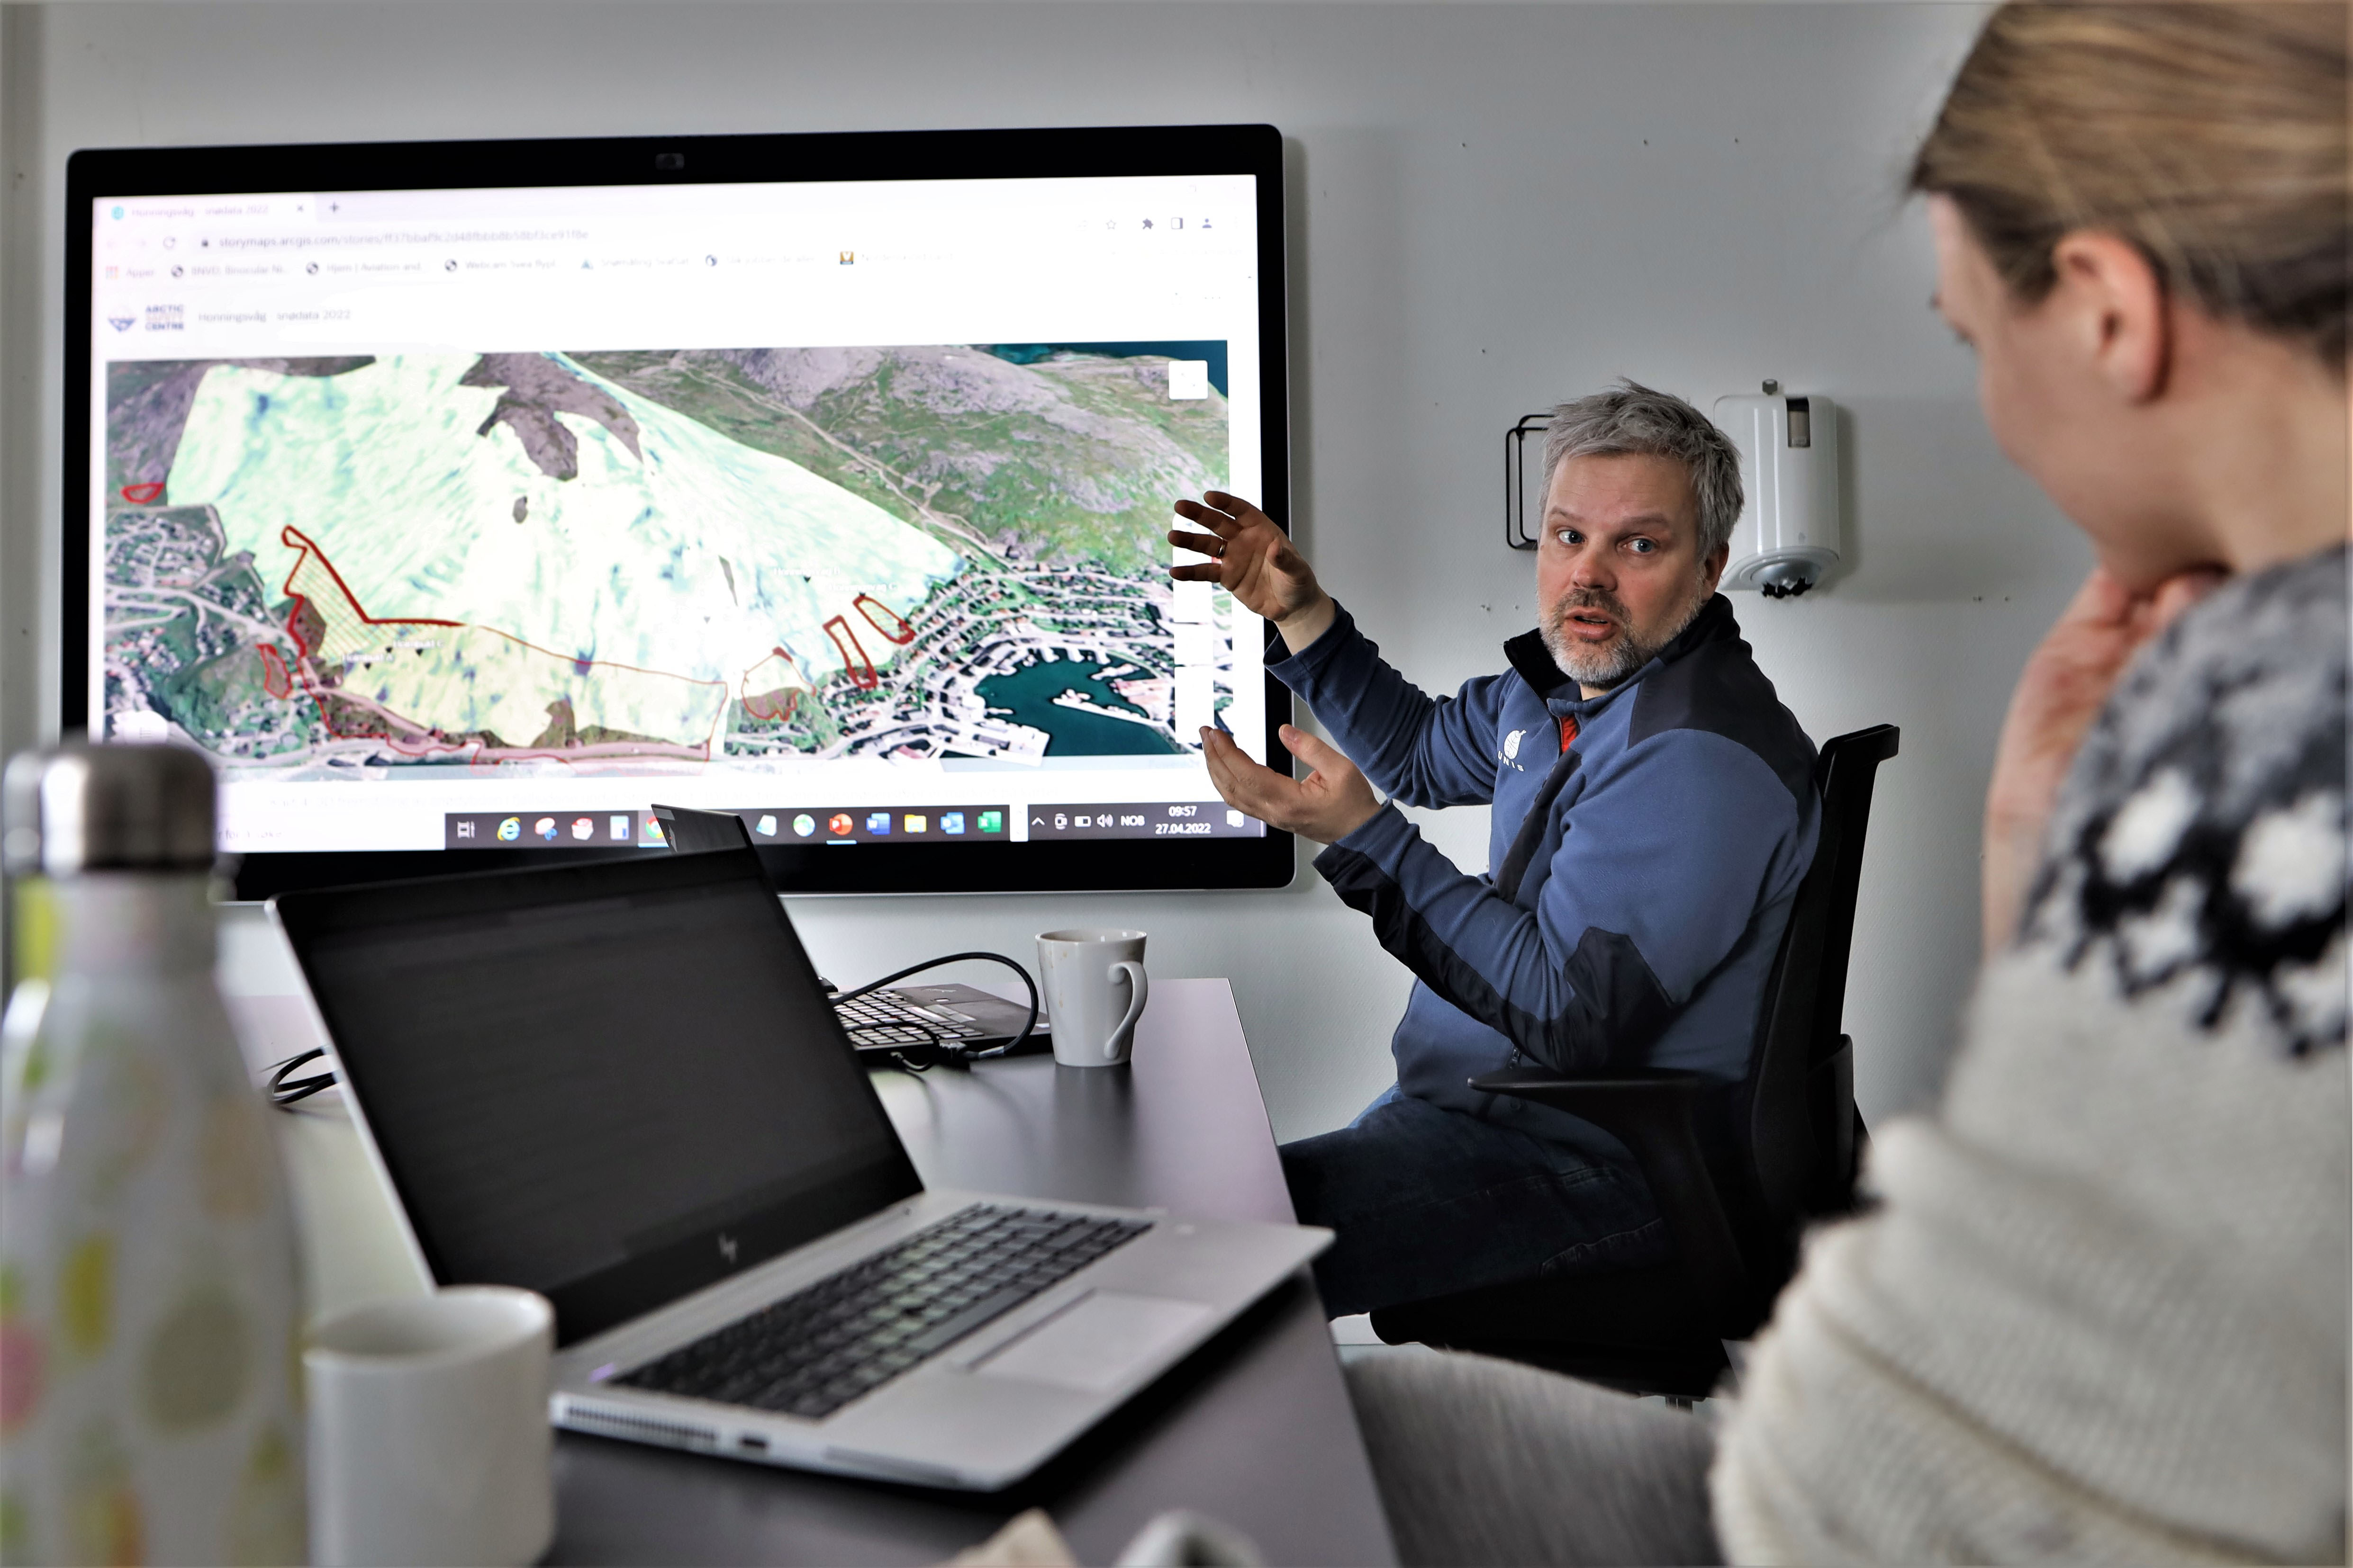
<path fill-rule="evenodd" d="M 675 167 L 661 167 L 675 165 Z M 765 181 L 1082 179 L 1249 174 L 1259 190 L 1261 489 L 1289 529 L 1289 313 L 1282 134 L 1273 125 L 1155 125 L 981 132 L 809 132 L 772 136 L 584 136 L 221 148 L 85 148 L 66 160 L 66 418 L 59 726 L 89 729 L 89 395 L 94 202 L 254 190 L 487 190 L 518 186 L 720 186 Z M 1268 646 L 1275 646 L 1268 628 Z M 1266 757 L 1292 773 L 1280 726 L 1289 691 L 1266 677 Z M 1139 778 L 1139 792 L 1148 785 Z M 242 856 L 238 898 L 433 877 L 499 865 L 647 851 L 273 851 Z M 1061 893 L 1280 889 L 1292 835 L 1257 839 L 1092 839 L 1047 844 L 760 846 L 786 893 Z"/>

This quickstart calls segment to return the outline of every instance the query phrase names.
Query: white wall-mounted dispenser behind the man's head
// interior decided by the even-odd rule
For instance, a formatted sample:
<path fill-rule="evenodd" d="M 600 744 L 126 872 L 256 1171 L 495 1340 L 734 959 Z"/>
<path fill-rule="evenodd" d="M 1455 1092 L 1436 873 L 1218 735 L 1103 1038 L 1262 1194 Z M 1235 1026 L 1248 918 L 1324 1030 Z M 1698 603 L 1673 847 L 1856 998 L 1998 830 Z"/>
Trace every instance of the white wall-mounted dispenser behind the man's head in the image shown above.
<path fill-rule="evenodd" d="M 1779 381 L 1762 395 L 1718 397 L 1715 425 L 1741 451 L 1748 503 L 1732 529 L 1725 588 L 1791 599 L 1838 564 L 1838 407 L 1791 397 Z"/>

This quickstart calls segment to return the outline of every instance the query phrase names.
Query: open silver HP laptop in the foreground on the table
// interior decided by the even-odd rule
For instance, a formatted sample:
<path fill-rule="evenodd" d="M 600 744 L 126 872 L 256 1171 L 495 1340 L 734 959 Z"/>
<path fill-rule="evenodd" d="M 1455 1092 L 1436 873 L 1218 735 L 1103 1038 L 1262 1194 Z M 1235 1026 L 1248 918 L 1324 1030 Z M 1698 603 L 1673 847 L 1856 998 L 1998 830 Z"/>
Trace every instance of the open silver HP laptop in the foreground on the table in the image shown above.
<path fill-rule="evenodd" d="M 927 1190 L 753 851 L 271 910 L 416 1265 L 555 1305 L 560 1427 L 993 1490 L 1332 1241 Z"/>

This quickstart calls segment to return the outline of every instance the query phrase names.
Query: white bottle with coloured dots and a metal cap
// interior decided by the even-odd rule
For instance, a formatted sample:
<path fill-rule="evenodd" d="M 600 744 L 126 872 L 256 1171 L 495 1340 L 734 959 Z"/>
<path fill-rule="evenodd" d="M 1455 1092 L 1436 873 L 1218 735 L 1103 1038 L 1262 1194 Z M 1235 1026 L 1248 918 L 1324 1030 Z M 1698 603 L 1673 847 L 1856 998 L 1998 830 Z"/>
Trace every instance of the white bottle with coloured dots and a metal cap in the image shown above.
<path fill-rule="evenodd" d="M 16 757 L 0 1561 L 304 1561 L 294 1215 L 212 976 L 207 762 Z"/>

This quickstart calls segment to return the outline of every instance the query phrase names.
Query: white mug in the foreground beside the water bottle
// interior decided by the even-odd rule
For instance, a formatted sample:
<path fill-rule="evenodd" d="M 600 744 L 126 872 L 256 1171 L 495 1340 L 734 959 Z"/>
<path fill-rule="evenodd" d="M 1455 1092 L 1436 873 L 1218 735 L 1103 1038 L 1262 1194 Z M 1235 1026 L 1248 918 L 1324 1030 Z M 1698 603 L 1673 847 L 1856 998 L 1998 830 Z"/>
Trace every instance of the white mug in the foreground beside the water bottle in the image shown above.
<path fill-rule="evenodd" d="M 311 1561 L 532 1563 L 555 1540 L 555 1312 L 454 1286 L 311 1331 Z"/>

